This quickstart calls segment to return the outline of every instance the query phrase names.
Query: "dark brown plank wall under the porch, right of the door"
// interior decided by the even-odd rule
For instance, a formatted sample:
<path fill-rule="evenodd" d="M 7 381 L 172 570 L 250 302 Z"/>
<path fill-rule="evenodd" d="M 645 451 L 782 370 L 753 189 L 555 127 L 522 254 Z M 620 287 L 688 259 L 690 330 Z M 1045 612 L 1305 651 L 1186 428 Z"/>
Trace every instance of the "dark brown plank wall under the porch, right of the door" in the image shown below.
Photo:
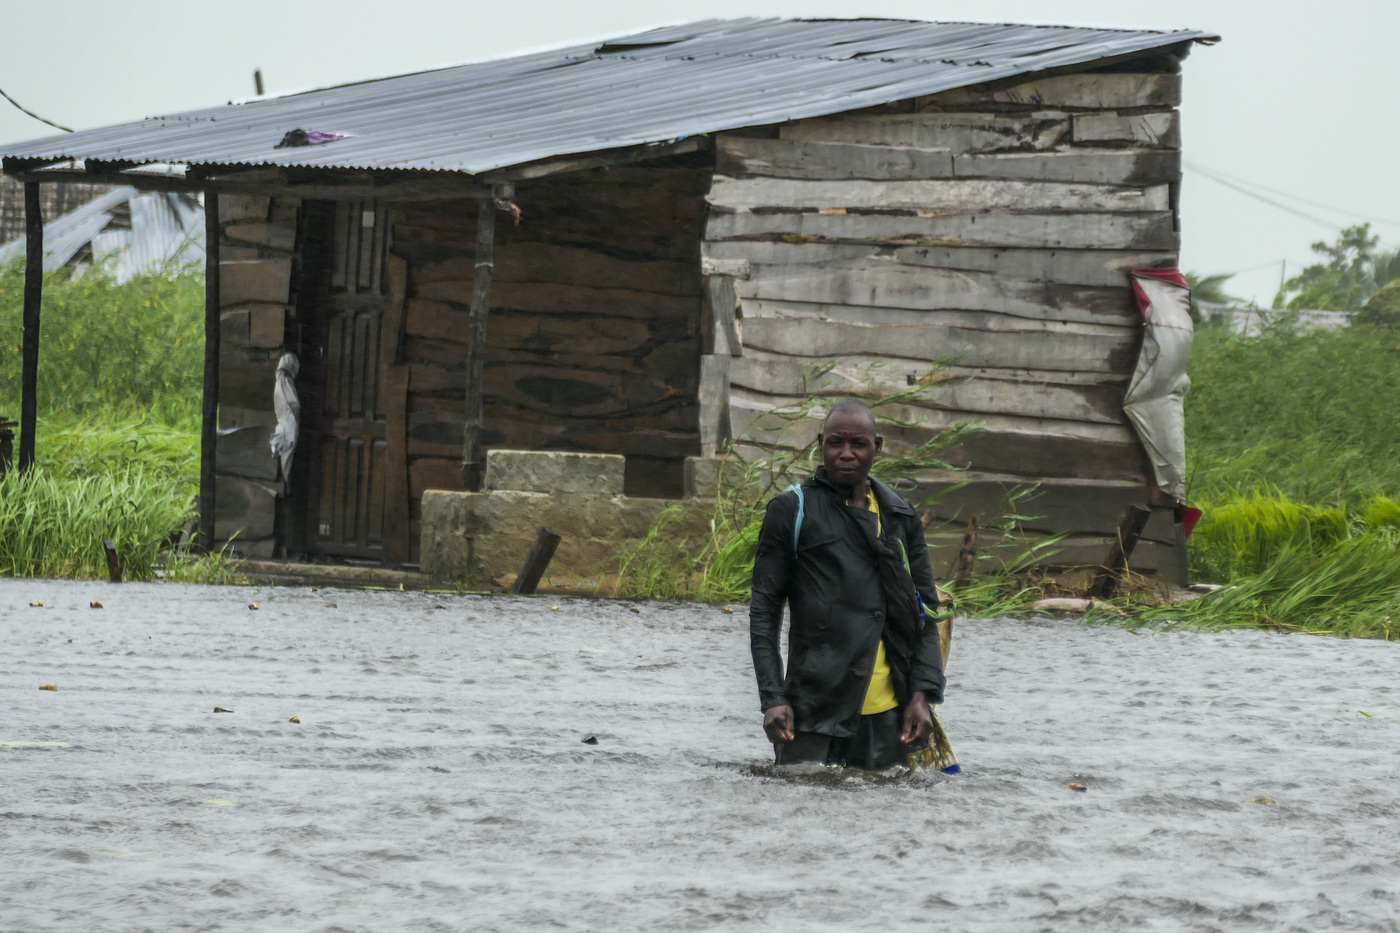
<path fill-rule="evenodd" d="M 497 221 L 486 353 L 486 448 L 627 457 L 627 495 L 679 497 L 700 450 L 699 160 L 591 170 L 517 185 Z M 424 489 L 461 489 L 475 202 L 395 209 L 409 266 L 413 538 Z"/>

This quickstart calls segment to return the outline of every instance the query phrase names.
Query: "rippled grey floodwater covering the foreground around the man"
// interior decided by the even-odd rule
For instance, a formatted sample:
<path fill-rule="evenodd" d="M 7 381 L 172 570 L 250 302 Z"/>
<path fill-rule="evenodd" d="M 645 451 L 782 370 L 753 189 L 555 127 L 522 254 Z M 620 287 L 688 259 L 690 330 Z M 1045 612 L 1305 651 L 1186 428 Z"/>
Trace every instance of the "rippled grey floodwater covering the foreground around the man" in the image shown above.
<path fill-rule="evenodd" d="M 766 766 L 742 607 L 0 580 L 0 646 L 7 932 L 1400 926 L 1400 644 L 962 621 L 893 780 Z"/>

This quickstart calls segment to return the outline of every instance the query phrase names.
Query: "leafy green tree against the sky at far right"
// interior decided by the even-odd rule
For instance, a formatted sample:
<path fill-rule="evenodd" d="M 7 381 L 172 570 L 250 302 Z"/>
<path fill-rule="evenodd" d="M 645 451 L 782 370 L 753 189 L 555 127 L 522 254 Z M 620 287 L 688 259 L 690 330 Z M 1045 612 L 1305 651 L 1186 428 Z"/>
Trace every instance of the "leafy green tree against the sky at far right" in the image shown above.
<path fill-rule="evenodd" d="M 1333 244 L 1315 242 L 1323 262 L 1284 283 L 1275 308 L 1294 311 L 1359 311 L 1383 286 L 1400 279 L 1400 251 L 1378 249 L 1371 224 L 1347 227 Z"/>

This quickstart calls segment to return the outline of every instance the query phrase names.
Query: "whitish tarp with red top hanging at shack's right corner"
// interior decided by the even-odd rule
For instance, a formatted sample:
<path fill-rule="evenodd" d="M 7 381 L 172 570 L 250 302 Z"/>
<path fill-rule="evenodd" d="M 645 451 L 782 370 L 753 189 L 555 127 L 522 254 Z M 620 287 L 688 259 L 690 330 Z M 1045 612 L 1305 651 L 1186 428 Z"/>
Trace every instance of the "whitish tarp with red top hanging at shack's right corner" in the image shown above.
<path fill-rule="evenodd" d="M 1162 492 L 1186 499 L 1186 412 L 1191 381 L 1191 290 L 1176 269 L 1134 269 L 1128 273 L 1138 311 L 1147 325 L 1137 370 L 1123 401 L 1137 429 Z"/>

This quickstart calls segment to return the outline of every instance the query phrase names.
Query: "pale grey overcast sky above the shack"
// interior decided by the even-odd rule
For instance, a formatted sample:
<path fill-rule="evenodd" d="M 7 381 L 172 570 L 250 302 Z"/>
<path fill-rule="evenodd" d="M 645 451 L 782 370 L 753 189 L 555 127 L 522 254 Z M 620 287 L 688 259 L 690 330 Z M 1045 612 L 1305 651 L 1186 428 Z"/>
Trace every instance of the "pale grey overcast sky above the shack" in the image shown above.
<path fill-rule="evenodd" d="M 87 129 L 251 97 L 255 67 L 276 94 L 742 15 L 1217 32 L 1184 66 L 1187 165 L 1271 189 L 1257 193 L 1296 213 L 1189 168 L 1182 266 L 1238 272 L 1232 291 L 1268 303 L 1280 263 L 1301 269 L 1338 226 L 1383 221 L 1382 241 L 1400 245 L 1394 0 L 0 0 L 0 88 Z M 0 143 L 52 132 L 0 101 Z"/>

